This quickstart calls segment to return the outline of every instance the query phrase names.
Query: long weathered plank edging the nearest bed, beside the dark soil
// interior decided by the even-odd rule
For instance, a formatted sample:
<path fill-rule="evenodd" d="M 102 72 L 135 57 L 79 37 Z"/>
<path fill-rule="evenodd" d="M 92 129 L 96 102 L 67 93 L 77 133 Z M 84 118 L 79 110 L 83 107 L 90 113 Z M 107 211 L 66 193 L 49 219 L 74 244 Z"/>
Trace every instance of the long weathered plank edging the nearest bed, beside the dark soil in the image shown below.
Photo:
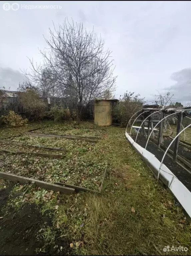
<path fill-rule="evenodd" d="M 52 184 L 49 182 L 35 180 L 32 178 L 26 178 L 26 177 L 22 177 L 22 176 L 15 175 L 15 174 L 0 172 L 0 177 L 2 179 L 8 179 L 13 182 L 20 182 L 21 184 L 35 183 L 38 187 L 45 188 L 48 190 L 60 191 L 61 193 L 64 193 L 67 195 L 71 195 L 75 192 L 75 190 L 73 188 L 63 187 L 63 186 L 59 186 L 59 185 Z"/>

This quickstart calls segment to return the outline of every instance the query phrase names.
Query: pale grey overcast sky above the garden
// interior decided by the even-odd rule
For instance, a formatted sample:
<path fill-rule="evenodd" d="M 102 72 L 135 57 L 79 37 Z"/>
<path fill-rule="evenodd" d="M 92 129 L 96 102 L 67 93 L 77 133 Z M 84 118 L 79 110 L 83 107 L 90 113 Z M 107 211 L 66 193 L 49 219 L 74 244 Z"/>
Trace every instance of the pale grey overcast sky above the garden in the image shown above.
<path fill-rule="evenodd" d="M 0 87 L 16 90 L 23 80 L 19 70 L 29 67 L 27 56 L 39 63 L 38 48 L 46 47 L 43 35 L 49 38 L 52 21 L 58 24 L 68 17 L 88 30 L 94 26 L 112 51 L 117 98 L 128 90 L 151 100 L 157 90 L 170 89 L 175 101 L 191 100 L 191 2 L 17 1 L 18 10 L 4 10 L 4 3 L 0 2 Z M 62 8 L 22 9 L 23 4 Z"/>

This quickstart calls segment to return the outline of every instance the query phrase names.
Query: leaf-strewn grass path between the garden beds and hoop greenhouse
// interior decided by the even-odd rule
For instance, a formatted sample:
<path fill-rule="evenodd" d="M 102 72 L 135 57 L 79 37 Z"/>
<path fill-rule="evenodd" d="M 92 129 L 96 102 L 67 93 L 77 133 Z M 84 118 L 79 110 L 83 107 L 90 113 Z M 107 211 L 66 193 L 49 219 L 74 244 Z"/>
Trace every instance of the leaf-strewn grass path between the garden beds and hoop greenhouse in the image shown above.
<path fill-rule="evenodd" d="M 168 252 L 168 255 L 190 255 L 191 227 L 182 209 L 157 183 L 124 133 L 125 129 L 108 127 L 104 139 L 85 155 L 87 162 L 94 159 L 109 163 L 100 195 L 67 196 L 54 192 L 50 196 L 48 191 L 48 196 L 43 196 L 35 192 L 41 189 L 31 186 L 23 195 L 25 200 L 16 197 L 14 204 L 17 200 L 39 205 L 44 202 L 41 211 L 53 211 L 53 225 L 43 226 L 38 238 L 56 246 L 55 230 L 58 230 L 59 237 L 67 237 L 72 243 L 73 254 L 164 255 L 164 246 L 181 245 L 188 247 L 188 251 Z M 16 185 L 14 189 L 23 191 L 24 187 Z M 38 194 L 40 198 L 36 199 Z M 49 236 L 50 228 L 54 236 Z"/>

